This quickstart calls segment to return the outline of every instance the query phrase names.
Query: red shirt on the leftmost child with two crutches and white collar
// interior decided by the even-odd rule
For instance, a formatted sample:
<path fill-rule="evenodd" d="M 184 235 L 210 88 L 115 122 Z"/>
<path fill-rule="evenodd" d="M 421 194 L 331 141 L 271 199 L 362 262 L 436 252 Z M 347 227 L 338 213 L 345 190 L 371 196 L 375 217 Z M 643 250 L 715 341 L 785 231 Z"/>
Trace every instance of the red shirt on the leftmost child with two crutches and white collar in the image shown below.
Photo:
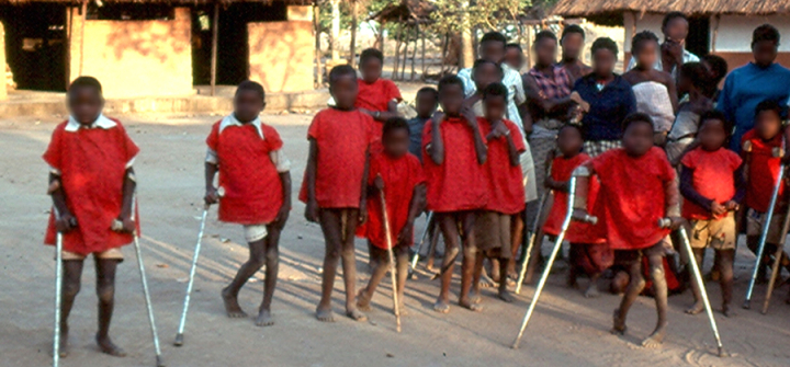
<path fill-rule="evenodd" d="M 132 234 L 110 229 L 121 214 L 126 164 L 139 148 L 120 122 L 110 128 L 67 131 L 68 122 L 55 128 L 44 160 L 60 171 L 66 206 L 77 218 L 77 228 L 63 234 L 64 250 L 87 255 L 120 248 Z M 55 210 L 49 215 L 44 243 L 55 244 Z M 139 216 L 135 215 L 139 231 Z"/>

